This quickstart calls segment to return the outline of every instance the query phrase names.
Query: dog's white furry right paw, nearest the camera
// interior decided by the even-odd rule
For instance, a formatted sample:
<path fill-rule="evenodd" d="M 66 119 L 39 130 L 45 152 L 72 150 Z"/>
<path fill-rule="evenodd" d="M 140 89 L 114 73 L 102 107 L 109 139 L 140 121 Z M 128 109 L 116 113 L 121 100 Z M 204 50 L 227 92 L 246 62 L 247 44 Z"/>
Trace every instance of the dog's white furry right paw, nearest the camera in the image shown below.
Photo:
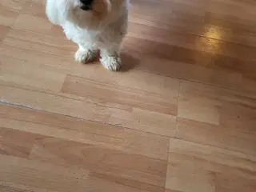
<path fill-rule="evenodd" d="M 111 71 L 118 71 L 121 66 L 121 58 L 119 56 L 103 56 L 101 58 L 102 65 Z"/>

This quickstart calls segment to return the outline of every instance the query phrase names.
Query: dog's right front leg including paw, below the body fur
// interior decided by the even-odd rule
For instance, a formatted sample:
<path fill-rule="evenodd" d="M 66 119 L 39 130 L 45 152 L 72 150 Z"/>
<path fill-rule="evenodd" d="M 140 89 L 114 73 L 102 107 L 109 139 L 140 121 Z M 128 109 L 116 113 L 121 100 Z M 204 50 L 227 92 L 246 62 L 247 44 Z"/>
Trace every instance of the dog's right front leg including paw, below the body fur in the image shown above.
<path fill-rule="evenodd" d="M 118 71 L 122 66 L 118 49 L 101 50 L 101 62 L 107 70 Z"/>

